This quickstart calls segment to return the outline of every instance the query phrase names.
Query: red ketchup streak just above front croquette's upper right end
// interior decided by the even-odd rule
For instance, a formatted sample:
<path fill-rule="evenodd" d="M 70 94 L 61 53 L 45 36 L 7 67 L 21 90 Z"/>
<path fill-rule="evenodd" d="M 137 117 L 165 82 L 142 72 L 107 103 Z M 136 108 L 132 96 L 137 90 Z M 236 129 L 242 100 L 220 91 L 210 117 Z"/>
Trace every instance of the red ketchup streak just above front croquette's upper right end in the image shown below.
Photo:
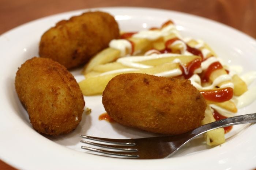
<path fill-rule="evenodd" d="M 182 71 L 182 75 L 185 79 L 191 78 L 191 76 L 194 74 L 194 71 L 201 66 L 201 60 L 195 59 L 185 66 L 180 65 L 180 69 Z M 185 70 L 184 70 L 185 69 Z"/>

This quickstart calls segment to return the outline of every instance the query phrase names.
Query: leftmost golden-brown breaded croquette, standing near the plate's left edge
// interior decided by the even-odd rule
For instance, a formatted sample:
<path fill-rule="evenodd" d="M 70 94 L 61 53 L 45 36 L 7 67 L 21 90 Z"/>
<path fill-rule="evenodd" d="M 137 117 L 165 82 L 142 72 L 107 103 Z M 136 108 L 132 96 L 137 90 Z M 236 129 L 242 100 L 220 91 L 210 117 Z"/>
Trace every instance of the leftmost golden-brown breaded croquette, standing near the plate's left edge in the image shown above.
<path fill-rule="evenodd" d="M 15 88 L 39 133 L 67 134 L 82 119 L 84 98 L 74 76 L 47 58 L 27 60 L 16 72 Z"/>

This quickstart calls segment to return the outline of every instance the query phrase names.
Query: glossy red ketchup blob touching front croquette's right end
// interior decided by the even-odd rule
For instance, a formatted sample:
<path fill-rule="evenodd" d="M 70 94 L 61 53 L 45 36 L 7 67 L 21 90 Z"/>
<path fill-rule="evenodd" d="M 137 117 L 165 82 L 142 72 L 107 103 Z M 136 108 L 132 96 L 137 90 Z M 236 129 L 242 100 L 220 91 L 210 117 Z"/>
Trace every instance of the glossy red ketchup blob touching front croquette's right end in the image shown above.
<path fill-rule="evenodd" d="M 233 88 L 217 88 L 213 90 L 202 90 L 200 93 L 204 99 L 212 102 L 225 102 L 233 97 Z"/>

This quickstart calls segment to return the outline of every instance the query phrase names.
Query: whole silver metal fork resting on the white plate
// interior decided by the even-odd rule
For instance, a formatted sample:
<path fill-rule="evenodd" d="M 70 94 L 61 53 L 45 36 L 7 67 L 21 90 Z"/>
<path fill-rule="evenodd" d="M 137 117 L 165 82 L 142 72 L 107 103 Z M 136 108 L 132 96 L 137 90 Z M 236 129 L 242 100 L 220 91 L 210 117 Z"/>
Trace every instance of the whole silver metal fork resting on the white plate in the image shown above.
<path fill-rule="evenodd" d="M 86 143 L 88 145 L 94 145 L 100 148 L 106 148 L 106 150 L 103 150 L 87 146 L 81 146 L 82 149 L 95 151 L 105 156 L 137 159 L 168 158 L 172 156 L 182 146 L 184 146 L 185 143 L 188 143 L 195 137 L 207 131 L 217 129 L 219 127 L 254 122 L 256 122 L 256 113 L 221 119 L 216 122 L 204 124 L 203 126 L 200 126 L 194 130 L 188 131 L 187 133 L 180 135 L 137 139 L 108 139 L 81 135 L 80 137 L 82 138 L 97 141 L 99 143 L 84 140 L 81 140 L 80 142 Z M 107 143 L 110 145 L 103 143 Z"/>

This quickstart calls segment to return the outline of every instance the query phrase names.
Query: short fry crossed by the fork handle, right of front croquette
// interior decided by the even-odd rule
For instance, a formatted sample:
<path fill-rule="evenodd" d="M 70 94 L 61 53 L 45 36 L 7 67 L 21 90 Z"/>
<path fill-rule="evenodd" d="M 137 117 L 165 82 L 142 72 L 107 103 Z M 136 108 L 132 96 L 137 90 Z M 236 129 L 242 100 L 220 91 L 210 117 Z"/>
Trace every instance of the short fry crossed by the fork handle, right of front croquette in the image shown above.
<path fill-rule="evenodd" d="M 204 113 L 204 119 L 202 120 L 202 125 L 215 122 L 214 116 L 212 115 L 213 111 L 210 106 L 207 105 L 206 111 Z M 225 130 L 223 128 L 214 129 L 208 131 L 204 134 L 207 145 L 220 145 L 225 142 Z"/>

